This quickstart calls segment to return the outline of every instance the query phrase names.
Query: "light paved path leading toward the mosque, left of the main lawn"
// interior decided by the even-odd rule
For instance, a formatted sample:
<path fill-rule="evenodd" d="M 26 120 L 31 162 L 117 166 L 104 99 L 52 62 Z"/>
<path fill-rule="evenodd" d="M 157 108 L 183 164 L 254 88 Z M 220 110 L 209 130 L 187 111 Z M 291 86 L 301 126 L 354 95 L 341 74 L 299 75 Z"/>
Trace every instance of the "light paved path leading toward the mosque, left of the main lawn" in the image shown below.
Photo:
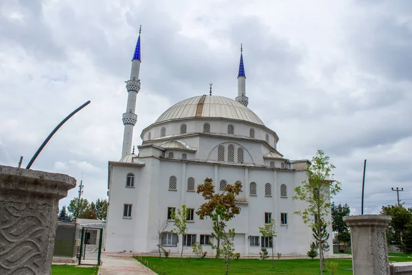
<path fill-rule="evenodd" d="M 102 255 L 102 265 L 100 266 L 100 275 L 155 275 L 155 272 L 149 270 L 136 259 L 128 256 L 111 256 Z"/>

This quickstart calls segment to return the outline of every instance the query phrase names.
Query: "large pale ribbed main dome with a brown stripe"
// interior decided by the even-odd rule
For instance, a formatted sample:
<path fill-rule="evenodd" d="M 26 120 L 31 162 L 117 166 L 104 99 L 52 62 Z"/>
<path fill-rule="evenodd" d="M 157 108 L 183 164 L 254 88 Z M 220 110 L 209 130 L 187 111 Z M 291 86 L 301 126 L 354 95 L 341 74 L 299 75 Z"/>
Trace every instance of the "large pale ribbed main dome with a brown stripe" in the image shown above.
<path fill-rule="evenodd" d="M 195 96 L 174 104 L 161 114 L 156 122 L 179 118 L 230 118 L 264 125 L 250 109 L 224 96 Z"/>

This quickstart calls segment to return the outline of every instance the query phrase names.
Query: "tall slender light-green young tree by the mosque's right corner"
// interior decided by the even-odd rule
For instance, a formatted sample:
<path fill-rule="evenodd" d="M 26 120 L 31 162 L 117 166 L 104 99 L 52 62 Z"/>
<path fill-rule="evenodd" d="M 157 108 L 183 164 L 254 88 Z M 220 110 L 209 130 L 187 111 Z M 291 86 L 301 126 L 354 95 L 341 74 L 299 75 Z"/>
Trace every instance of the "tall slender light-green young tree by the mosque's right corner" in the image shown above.
<path fill-rule="evenodd" d="M 330 222 L 325 221 L 332 206 L 330 200 L 341 190 L 339 181 L 334 180 L 335 166 L 329 162 L 329 159 L 330 157 L 323 151 L 317 151 L 317 155 L 312 158 L 312 164 L 306 168 L 308 179 L 295 187 L 295 195 L 292 197 L 295 200 L 306 202 L 306 208 L 295 211 L 295 214 L 299 214 L 304 223 L 312 230 L 316 230 L 317 236 L 321 236 L 323 225 L 330 225 Z M 319 266 L 321 275 L 323 275 L 324 260 L 321 243 L 318 243 Z"/>

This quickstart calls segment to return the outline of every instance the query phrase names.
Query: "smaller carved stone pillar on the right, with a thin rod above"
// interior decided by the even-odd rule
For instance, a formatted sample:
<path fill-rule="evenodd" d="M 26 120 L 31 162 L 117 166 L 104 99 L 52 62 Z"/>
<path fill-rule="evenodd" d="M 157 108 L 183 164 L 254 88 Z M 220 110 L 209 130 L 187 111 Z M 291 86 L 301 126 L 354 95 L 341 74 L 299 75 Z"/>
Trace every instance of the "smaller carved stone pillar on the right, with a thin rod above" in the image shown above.
<path fill-rule="evenodd" d="M 386 228 L 391 217 L 378 214 L 343 217 L 350 227 L 354 275 L 389 275 Z"/>

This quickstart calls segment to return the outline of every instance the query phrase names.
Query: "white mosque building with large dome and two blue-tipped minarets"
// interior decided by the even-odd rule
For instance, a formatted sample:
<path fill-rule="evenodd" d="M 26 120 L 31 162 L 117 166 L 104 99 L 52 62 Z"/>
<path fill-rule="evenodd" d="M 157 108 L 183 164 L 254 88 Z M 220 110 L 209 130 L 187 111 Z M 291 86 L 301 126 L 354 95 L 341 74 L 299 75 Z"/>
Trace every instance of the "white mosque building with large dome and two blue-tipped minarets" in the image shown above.
<path fill-rule="evenodd" d="M 178 253 L 192 253 L 199 242 L 209 255 L 212 222 L 200 220 L 196 210 L 205 202 L 196 193 L 206 177 L 215 191 L 227 184 L 242 183 L 237 198 L 240 214 L 229 221 L 235 228 L 234 245 L 242 256 L 259 255 L 269 248 L 259 227 L 275 219 L 275 253 L 306 254 L 312 231 L 293 214 L 304 203 L 292 199 L 293 188 L 306 179 L 306 159 L 291 160 L 277 151 L 279 137 L 247 107 L 246 76 L 242 52 L 238 70 L 238 95 L 200 95 L 174 104 L 141 132 L 139 153 L 131 150 L 133 126 L 137 122 L 135 102 L 140 89 L 140 34 L 126 82 L 128 100 L 123 114 L 122 159 L 108 162 L 108 220 L 106 251 L 157 252 L 157 224 L 168 221 L 161 238 L 163 247 Z M 183 241 L 174 228 L 170 209 L 190 208 L 187 234 Z M 331 239 L 331 238 L 330 238 Z M 269 250 L 269 249 L 268 249 Z"/>

